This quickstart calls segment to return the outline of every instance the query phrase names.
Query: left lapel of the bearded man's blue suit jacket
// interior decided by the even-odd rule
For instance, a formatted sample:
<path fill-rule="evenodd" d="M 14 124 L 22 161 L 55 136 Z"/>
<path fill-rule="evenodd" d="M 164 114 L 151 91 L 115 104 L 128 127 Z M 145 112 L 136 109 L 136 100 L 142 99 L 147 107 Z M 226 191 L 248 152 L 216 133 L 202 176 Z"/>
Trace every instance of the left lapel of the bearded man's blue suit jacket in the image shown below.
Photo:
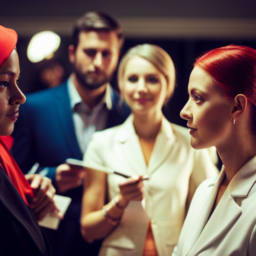
<path fill-rule="evenodd" d="M 55 91 L 54 111 L 56 112 L 56 118 L 59 122 L 60 131 L 63 133 L 64 140 L 66 141 L 67 147 L 73 156 L 70 157 L 81 159 L 82 154 L 79 149 L 73 119 L 72 112 L 70 109 L 70 99 L 67 92 L 67 83 L 65 82 L 59 87 L 58 91 Z"/>

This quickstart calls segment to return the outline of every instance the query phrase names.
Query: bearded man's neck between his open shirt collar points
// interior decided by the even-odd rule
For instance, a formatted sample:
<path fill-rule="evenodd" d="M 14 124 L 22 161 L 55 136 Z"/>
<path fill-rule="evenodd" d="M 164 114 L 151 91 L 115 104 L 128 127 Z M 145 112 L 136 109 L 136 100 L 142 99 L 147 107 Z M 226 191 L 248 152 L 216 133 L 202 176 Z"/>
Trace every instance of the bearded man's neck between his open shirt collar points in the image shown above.
<path fill-rule="evenodd" d="M 80 97 L 90 109 L 96 106 L 104 96 L 107 83 L 95 89 L 88 89 L 81 84 L 74 72 L 71 74 L 71 79 Z"/>

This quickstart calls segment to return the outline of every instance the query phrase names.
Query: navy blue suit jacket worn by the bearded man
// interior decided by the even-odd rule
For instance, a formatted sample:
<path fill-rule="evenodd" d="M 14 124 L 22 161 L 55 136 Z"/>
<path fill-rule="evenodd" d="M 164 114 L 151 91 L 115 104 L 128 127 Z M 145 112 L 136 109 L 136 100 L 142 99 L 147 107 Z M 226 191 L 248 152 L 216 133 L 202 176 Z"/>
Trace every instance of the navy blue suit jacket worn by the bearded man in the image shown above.
<path fill-rule="evenodd" d="M 107 127 L 122 123 L 130 112 L 127 106 L 120 106 L 119 95 L 114 90 L 111 98 L 112 109 L 109 111 Z M 11 153 L 20 169 L 26 173 L 38 162 L 40 168 L 46 167 L 48 170 L 46 176 L 52 179 L 53 185 L 56 166 L 64 163 L 66 158 L 82 159 L 75 136 L 67 82 L 27 95 L 26 102 L 20 105 L 12 135 L 14 144 Z M 79 224 L 82 186 L 63 195 L 72 198 L 64 219 L 57 231 L 45 229 L 53 255 L 84 255 L 84 251 L 74 254 L 75 248 L 80 248 L 80 251 L 86 247 L 80 235 Z M 69 249 L 70 253 L 67 252 Z"/>

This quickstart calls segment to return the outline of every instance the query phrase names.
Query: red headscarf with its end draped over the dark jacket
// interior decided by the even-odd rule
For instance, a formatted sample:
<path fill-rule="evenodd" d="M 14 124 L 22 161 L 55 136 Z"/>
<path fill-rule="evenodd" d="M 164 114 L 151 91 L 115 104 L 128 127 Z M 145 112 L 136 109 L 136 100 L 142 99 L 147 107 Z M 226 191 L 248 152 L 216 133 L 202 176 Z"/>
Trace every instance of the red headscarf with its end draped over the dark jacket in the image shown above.
<path fill-rule="evenodd" d="M 0 68 L 9 58 L 11 52 L 16 46 L 16 43 L 17 33 L 12 29 L 0 25 Z M 5 171 L 23 200 L 28 204 L 28 201 L 33 197 L 32 188 L 1 139 L 0 166 Z"/>

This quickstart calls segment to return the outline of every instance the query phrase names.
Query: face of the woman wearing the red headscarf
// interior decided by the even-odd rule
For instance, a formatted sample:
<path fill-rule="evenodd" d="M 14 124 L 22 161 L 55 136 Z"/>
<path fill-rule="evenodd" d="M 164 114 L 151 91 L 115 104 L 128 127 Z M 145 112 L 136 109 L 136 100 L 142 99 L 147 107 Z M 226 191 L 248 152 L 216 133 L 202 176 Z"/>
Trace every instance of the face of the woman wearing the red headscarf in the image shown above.
<path fill-rule="evenodd" d="M 14 49 L 0 68 L 0 135 L 9 135 L 18 117 L 19 104 L 25 102 L 25 96 L 18 88 L 19 63 Z"/>

